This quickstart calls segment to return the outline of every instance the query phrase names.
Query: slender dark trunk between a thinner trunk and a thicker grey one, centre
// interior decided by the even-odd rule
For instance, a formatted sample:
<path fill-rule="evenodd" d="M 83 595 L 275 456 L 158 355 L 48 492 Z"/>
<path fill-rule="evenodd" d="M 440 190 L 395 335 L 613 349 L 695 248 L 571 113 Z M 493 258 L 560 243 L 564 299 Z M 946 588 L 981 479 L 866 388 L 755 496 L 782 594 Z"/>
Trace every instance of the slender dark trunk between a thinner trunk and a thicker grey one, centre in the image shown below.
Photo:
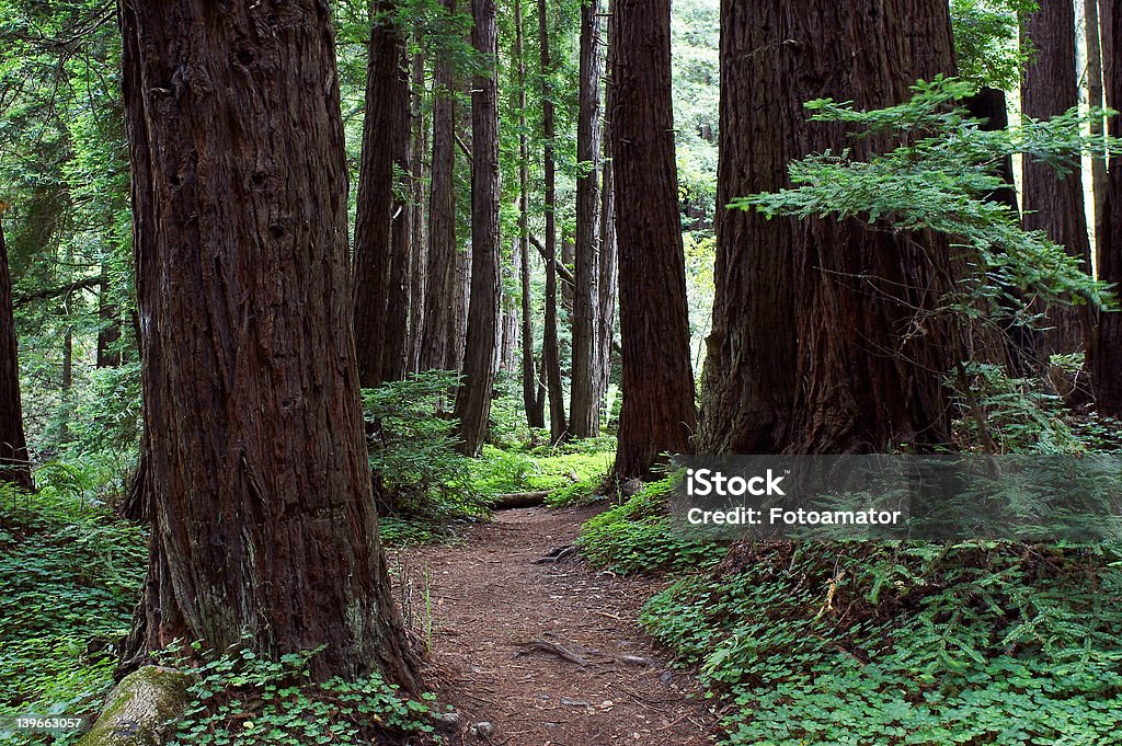
<path fill-rule="evenodd" d="M 564 390 L 561 385 L 561 348 L 558 340 L 558 229 L 557 229 L 557 137 L 553 110 L 553 63 L 550 55 L 550 22 L 545 0 L 537 0 L 537 44 L 542 62 L 542 137 L 545 145 L 545 329 L 542 333 L 542 367 L 550 399 L 550 441 L 568 435 Z"/>

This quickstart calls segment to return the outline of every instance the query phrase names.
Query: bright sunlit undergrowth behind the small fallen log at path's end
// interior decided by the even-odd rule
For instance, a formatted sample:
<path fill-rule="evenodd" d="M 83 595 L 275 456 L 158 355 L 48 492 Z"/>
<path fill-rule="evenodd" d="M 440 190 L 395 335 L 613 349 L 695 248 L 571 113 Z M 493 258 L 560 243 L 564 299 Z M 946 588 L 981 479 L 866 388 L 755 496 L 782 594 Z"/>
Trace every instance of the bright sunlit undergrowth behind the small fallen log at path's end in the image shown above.
<path fill-rule="evenodd" d="M 550 507 L 582 505 L 603 491 L 615 458 L 615 439 L 573 441 L 503 450 L 484 446 L 471 464 L 473 489 L 488 497 L 509 492 L 550 490 Z"/>

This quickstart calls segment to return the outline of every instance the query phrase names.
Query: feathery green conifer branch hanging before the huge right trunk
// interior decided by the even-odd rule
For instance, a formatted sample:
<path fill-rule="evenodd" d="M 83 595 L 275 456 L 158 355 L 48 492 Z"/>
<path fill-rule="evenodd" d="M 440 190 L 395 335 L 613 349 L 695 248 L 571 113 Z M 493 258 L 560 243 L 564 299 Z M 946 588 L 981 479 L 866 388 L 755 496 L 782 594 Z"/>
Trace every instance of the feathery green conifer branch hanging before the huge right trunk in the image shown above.
<path fill-rule="evenodd" d="M 811 122 L 842 122 L 861 131 L 858 137 L 902 144 L 866 160 L 854 159 L 849 150 L 809 155 L 790 165 L 793 188 L 747 196 L 732 206 L 757 209 L 769 218 L 863 218 L 876 229 L 949 236 L 959 246 L 966 276 L 947 302 L 965 319 L 1030 325 L 1037 320 L 1018 300 L 1026 294 L 1042 303 L 1113 307 L 1110 286 L 1091 278 L 1077 257 L 1042 231 L 1023 230 L 1013 212 L 987 197 L 1004 186 L 999 168 L 1009 155 L 1024 154 L 1066 175 L 1084 155 L 1118 153 L 1119 141 L 1085 135 L 1087 116 L 1076 109 L 986 132 L 957 105 L 973 92 L 971 84 L 940 76 L 920 81 L 913 91 L 908 102 L 867 112 L 830 99 L 808 103 Z"/>

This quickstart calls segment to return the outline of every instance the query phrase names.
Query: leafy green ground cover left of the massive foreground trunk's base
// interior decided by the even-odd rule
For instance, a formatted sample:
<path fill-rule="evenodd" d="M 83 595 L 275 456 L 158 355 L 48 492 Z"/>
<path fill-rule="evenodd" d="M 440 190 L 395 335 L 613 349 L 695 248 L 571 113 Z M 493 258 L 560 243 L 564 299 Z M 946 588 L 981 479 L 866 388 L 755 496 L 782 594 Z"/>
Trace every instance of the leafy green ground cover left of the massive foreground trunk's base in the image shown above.
<path fill-rule="evenodd" d="M 91 499 L 98 475 L 37 478 L 35 495 L 0 488 L 0 743 L 50 743 L 6 733 L 18 716 L 96 713 L 148 558 L 144 532 Z"/>

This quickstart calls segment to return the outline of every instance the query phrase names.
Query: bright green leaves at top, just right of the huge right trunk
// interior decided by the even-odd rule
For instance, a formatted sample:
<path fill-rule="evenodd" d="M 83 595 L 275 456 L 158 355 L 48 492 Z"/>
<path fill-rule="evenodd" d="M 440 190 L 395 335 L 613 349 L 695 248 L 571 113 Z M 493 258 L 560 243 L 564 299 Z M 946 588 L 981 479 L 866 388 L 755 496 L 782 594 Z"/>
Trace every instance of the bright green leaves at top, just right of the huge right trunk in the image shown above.
<path fill-rule="evenodd" d="M 975 86 L 1012 91 L 1031 48 L 1019 45 L 1021 19 L 1034 0 L 950 0 L 958 74 Z"/>

